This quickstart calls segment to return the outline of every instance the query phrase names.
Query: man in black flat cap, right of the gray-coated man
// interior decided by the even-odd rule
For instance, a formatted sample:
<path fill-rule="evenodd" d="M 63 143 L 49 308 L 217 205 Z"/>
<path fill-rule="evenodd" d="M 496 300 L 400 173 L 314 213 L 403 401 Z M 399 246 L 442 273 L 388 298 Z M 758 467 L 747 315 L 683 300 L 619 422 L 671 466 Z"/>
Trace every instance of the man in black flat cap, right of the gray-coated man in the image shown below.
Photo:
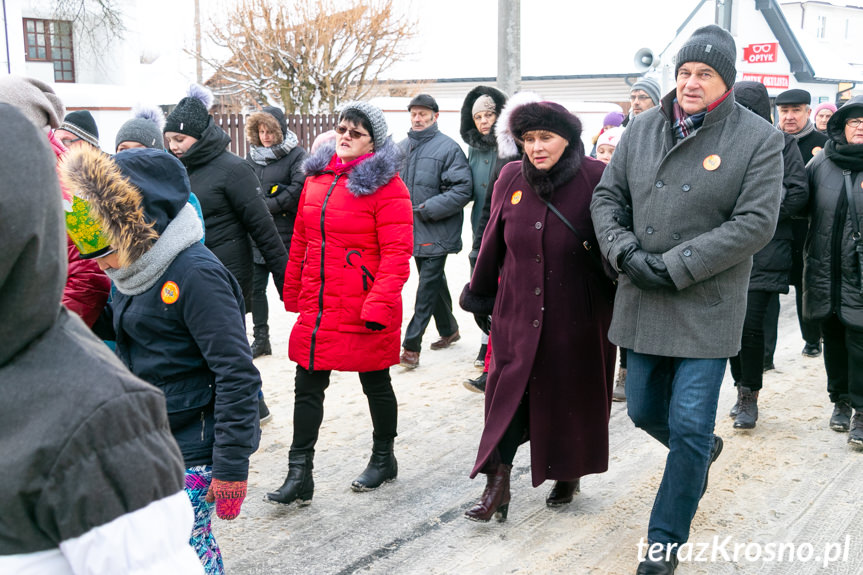
<path fill-rule="evenodd" d="M 827 142 L 827 136 L 815 129 L 815 124 L 809 119 L 809 104 L 812 96 L 806 90 L 786 90 L 776 96 L 778 108 L 777 125 L 786 134 L 791 134 L 797 141 L 803 165 L 809 163 Z M 792 253 L 791 283 L 797 303 L 797 321 L 805 345 L 803 355 L 818 357 L 821 355 L 821 330 L 817 323 L 807 321 L 803 316 L 803 245 L 806 233 L 809 231 L 807 214 L 800 214 L 791 220 L 791 231 L 794 236 Z M 779 322 L 779 300 L 771 301 L 767 307 L 764 326 L 764 368 L 773 368 L 773 352 L 776 351 L 776 329 Z"/>

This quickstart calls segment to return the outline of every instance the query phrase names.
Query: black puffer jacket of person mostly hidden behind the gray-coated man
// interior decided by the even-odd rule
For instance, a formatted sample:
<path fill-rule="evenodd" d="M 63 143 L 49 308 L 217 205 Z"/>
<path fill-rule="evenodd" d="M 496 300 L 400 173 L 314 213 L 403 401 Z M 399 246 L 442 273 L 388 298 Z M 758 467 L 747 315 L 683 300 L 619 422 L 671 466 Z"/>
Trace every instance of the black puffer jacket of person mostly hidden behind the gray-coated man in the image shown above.
<path fill-rule="evenodd" d="M 737 82 L 734 97 L 744 108 L 770 122 L 770 98 L 767 88 L 760 82 Z M 805 211 L 809 200 L 806 182 L 806 167 L 797 140 L 784 134 L 785 147 L 782 152 L 785 174 L 782 177 L 782 204 L 779 206 L 779 221 L 776 233 L 761 251 L 752 258 L 752 273 L 749 276 L 750 291 L 788 293 L 789 273 L 792 264 L 793 234 L 791 218 Z"/>

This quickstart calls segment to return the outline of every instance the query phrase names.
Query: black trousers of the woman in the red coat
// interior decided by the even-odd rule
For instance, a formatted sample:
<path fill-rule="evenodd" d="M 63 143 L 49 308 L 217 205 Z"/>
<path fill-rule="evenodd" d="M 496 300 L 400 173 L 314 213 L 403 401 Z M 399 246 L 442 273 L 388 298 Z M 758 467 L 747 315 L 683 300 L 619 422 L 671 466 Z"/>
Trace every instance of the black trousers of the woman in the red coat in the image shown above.
<path fill-rule="evenodd" d="M 389 441 L 396 437 L 398 403 L 390 370 L 360 372 L 363 393 L 372 416 L 372 437 Z M 309 371 L 297 366 L 294 380 L 294 439 L 291 451 L 311 451 L 324 420 L 324 391 L 330 385 L 330 370 Z"/>

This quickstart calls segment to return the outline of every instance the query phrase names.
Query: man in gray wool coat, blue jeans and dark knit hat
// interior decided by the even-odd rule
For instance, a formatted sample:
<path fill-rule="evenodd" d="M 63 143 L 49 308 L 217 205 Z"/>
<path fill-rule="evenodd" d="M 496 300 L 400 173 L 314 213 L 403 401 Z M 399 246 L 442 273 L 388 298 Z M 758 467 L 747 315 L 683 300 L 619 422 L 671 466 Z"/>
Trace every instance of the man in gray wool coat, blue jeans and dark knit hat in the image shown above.
<path fill-rule="evenodd" d="M 734 101 L 737 48 L 696 30 L 676 90 L 637 116 L 591 202 L 620 271 L 609 339 L 629 351 L 629 417 L 668 447 L 638 575 L 671 574 L 722 451 L 713 434 L 726 358 L 740 349 L 752 255 L 776 228 L 782 134 Z"/>

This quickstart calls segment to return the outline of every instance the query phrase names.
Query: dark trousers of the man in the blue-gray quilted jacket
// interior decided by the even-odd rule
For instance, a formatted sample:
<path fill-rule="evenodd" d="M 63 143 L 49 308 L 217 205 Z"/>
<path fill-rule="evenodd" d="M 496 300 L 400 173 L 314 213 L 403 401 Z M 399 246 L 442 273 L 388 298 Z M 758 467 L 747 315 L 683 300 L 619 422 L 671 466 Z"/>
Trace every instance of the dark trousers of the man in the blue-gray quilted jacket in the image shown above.
<path fill-rule="evenodd" d="M 405 329 L 404 347 L 409 351 L 420 351 L 423 334 L 432 317 L 441 337 L 449 337 L 457 332 L 458 322 L 452 314 L 452 298 L 444 274 L 446 254 L 430 258 L 417 257 L 414 260 L 419 272 L 417 298 L 414 315 Z"/>

